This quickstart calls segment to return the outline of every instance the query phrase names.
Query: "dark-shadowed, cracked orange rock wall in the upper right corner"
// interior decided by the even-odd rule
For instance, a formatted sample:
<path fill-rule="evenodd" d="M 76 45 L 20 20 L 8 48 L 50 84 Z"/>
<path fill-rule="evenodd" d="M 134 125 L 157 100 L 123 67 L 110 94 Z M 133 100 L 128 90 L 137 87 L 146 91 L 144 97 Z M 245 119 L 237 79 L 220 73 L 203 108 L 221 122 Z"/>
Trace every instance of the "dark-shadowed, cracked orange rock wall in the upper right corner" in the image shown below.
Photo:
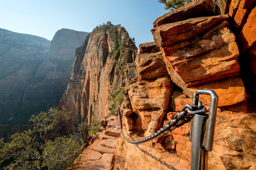
<path fill-rule="evenodd" d="M 230 27 L 236 35 L 238 47 L 240 50 L 240 75 L 245 84 L 249 98 L 247 99 L 251 112 L 256 111 L 256 74 L 255 74 L 255 58 L 256 58 L 256 1 L 241 0 L 241 1 L 217 1 L 220 9 L 226 7 L 226 10 L 221 10 L 222 14 L 230 16 Z M 228 7 L 228 8 L 227 8 Z"/>

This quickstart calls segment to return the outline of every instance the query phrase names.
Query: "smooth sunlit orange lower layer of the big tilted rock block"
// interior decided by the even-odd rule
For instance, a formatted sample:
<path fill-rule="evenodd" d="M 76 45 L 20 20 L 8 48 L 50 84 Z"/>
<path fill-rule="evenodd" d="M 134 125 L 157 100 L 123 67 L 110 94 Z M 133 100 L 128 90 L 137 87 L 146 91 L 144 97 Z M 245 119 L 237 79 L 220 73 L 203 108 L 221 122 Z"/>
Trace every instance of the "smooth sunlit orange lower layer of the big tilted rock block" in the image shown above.
<path fill-rule="evenodd" d="M 240 68 L 237 61 L 238 55 L 238 46 L 233 42 L 205 55 L 174 61 L 170 64 L 187 86 L 193 86 L 238 75 Z"/>

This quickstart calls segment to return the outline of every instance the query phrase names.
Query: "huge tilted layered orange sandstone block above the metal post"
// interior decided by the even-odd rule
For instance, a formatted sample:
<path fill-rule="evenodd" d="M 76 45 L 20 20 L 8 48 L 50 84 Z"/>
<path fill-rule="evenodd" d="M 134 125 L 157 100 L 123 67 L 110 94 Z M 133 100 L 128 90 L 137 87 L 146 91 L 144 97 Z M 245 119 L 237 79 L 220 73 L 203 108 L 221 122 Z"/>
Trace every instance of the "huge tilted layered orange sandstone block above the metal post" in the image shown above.
<path fill-rule="evenodd" d="M 235 77 L 240 68 L 239 50 L 227 27 L 228 16 L 220 15 L 187 19 L 151 30 L 172 81 L 189 97 L 195 89 L 215 90 L 220 107 L 240 103 L 247 97 L 243 82 Z M 223 94 L 225 84 L 231 83 L 228 86 L 233 88 Z M 203 101 L 209 105 L 208 99 Z"/>

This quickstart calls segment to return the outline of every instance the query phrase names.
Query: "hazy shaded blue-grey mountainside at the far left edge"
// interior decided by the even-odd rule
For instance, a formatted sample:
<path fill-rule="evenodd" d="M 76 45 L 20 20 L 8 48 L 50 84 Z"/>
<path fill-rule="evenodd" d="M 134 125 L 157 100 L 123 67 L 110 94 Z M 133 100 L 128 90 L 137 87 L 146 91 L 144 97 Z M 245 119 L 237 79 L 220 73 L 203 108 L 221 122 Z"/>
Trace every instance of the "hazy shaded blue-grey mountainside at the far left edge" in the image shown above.
<path fill-rule="evenodd" d="M 48 54 L 50 41 L 0 29 L 0 124 L 25 122 L 24 91 Z"/>

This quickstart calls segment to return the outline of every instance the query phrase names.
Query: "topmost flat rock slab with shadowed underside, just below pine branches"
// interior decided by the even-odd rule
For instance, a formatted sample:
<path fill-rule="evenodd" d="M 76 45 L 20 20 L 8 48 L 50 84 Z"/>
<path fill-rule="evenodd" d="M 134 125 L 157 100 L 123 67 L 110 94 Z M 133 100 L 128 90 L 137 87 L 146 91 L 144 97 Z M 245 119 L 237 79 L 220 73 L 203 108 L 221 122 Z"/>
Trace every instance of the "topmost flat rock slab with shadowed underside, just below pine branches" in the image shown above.
<path fill-rule="evenodd" d="M 162 24 L 185 20 L 191 18 L 191 16 L 197 18 L 202 16 L 212 16 L 214 14 L 214 4 L 211 0 L 195 0 L 188 5 L 184 5 L 183 7 L 160 16 L 153 24 L 155 28 Z"/>

